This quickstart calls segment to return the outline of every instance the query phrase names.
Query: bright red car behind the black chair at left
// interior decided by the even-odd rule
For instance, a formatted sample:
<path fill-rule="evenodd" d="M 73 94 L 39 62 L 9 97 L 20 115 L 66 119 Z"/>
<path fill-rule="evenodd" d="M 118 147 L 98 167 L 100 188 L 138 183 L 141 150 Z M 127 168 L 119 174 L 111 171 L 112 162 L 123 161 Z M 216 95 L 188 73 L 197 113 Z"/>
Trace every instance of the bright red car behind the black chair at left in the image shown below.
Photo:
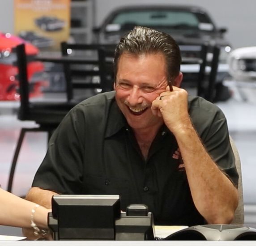
<path fill-rule="evenodd" d="M 19 100 L 20 98 L 17 92 L 18 69 L 13 65 L 17 60 L 13 48 L 20 43 L 25 43 L 28 57 L 38 54 L 38 48 L 31 43 L 9 33 L 0 33 L 0 100 Z M 33 61 L 28 63 L 28 79 L 31 83 L 30 97 L 42 95 L 41 87 L 47 85 L 47 81 L 42 80 L 42 76 L 40 76 L 43 71 L 44 65 L 42 62 Z"/>

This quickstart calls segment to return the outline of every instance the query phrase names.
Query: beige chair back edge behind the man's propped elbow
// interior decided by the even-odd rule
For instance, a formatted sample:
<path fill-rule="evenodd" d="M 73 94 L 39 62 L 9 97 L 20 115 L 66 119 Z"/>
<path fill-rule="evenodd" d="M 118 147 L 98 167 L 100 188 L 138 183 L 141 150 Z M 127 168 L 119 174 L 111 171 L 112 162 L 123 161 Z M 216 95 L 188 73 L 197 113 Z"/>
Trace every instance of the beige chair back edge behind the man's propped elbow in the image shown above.
<path fill-rule="evenodd" d="M 237 172 L 239 174 L 239 180 L 238 180 L 239 202 L 238 202 L 238 206 L 235 210 L 235 217 L 232 221 L 232 224 L 243 224 L 244 223 L 244 208 L 243 208 L 243 183 L 242 183 L 241 161 L 240 161 L 238 150 L 235 146 L 235 142 L 231 138 L 231 136 L 230 136 L 230 144 L 231 144 L 234 156 L 235 156 L 235 166 L 236 166 Z"/>

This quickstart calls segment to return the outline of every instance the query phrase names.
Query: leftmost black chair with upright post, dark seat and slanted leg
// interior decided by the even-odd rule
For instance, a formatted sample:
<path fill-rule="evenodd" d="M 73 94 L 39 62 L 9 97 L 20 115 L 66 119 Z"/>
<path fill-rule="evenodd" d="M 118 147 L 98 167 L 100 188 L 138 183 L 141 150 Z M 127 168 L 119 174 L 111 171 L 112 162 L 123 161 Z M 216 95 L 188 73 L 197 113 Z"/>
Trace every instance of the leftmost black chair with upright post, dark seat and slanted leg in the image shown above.
<path fill-rule="evenodd" d="M 52 132 L 59 125 L 60 121 L 64 118 L 67 112 L 75 105 L 71 102 L 30 102 L 29 90 L 30 84 L 28 81 L 27 65 L 32 62 L 28 61 L 25 44 L 20 44 L 16 47 L 17 54 L 17 68 L 19 80 L 19 93 L 20 93 L 20 107 L 18 110 L 17 118 L 19 120 L 34 121 L 38 127 L 22 128 L 18 138 L 17 147 L 14 152 L 13 161 L 11 164 L 8 188 L 9 192 L 12 191 L 13 177 L 17 164 L 17 158 L 21 150 L 21 144 L 27 131 L 46 131 L 48 139 Z"/>

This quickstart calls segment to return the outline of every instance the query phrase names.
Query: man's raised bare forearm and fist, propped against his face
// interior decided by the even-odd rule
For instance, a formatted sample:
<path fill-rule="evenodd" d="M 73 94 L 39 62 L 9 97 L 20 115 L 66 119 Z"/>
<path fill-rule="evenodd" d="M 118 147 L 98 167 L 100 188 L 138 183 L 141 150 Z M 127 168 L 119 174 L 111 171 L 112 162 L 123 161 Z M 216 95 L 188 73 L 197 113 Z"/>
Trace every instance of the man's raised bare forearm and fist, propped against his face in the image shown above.
<path fill-rule="evenodd" d="M 188 93 L 173 89 L 153 102 L 153 112 L 163 117 L 177 140 L 197 210 L 209 224 L 228 224 L 238 204 L 237 189 L 201 143 L 188 114 Z"/>

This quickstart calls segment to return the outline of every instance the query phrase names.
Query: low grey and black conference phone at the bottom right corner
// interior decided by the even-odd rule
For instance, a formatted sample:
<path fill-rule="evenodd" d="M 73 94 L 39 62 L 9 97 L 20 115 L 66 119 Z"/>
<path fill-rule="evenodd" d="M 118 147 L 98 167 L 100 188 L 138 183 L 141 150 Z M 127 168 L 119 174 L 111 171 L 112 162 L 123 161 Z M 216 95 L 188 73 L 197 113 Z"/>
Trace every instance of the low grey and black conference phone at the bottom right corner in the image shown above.
<path fill-rule="evenodd" d="M 256 229 L 243 225 L 195 225 L 173 233 L 164 240 L 256 240 Z"/>

